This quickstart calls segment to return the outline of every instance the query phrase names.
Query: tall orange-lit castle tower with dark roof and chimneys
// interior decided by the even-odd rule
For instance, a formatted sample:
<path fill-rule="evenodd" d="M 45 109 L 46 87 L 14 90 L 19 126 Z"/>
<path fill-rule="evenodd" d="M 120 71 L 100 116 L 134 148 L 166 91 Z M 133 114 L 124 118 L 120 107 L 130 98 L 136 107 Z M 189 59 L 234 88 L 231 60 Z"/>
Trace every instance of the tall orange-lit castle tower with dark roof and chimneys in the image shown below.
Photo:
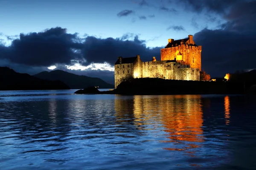
<path fill-rule="evenodd" d="M 196 45 L 193 36 L 181 40 L 168 39 L 168 44 L 161 49 L 161 60 L 183 61 L 191 68 L 199 68 L 201 71 L 202 46 Z"/>

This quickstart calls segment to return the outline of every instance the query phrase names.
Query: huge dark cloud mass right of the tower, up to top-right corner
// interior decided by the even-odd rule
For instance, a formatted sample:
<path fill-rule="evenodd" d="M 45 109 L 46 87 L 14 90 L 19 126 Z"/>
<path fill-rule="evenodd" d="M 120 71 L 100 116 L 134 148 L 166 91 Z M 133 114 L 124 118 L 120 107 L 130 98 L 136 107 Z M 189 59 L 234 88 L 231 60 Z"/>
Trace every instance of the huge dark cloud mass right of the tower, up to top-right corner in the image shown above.
<path fill-rule="evenodd" d="M 239 6 L 244 11 L 239 11 Z M 195 42 L 202 45 L 202 68 L 212 76 L 224 76 L 227 72 L 256 68 L 255 9 L 255 2 L 234 5 L 226 14 L 229 21 L 220 29 L 204 29 L 195 34 Z"/>

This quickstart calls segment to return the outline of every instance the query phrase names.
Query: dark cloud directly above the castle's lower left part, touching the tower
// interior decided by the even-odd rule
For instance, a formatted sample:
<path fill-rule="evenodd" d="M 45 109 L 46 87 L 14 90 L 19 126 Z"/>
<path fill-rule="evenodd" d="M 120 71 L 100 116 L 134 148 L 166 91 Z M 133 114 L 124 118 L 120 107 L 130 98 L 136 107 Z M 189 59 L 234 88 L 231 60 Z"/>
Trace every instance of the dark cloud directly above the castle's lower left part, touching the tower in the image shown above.
<path fill-rule="evenodd" d="M 117 57 L 135 57 L 140 54 L 143 60 L 148 60 L 153 56 L 160 59 L 160 47 L 147 48 L 145 40 L 139 40 L 136 35 L 133 40 L 123 40 L 122 38 L 98 39 L 96 37 L 87 37 L 84 41 L 82 50 L 84 58 L 89 64 L 108 62 L 113 65 Z"/>

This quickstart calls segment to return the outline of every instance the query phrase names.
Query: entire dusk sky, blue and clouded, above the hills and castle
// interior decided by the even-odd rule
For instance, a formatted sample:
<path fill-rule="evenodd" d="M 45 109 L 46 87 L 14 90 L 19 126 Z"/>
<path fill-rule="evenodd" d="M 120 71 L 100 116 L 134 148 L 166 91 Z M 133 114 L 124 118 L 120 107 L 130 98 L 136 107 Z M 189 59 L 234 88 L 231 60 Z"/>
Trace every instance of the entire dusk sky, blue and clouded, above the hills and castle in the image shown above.
<path fill-rule="evenodd" d="M 0 66 L 113 84 L 117 57 L 160 60 L 194 35 L 211 77 L 256 68 L 256 0 L 0 0 Z"/>

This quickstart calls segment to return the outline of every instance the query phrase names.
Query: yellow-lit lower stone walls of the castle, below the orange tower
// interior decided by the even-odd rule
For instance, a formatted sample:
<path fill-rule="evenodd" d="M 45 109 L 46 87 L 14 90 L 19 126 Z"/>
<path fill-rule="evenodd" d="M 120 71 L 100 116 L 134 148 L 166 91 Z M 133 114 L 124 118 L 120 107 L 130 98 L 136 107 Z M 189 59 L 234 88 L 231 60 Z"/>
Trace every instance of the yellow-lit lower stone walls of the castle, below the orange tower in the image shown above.
<path fill-rule="evenodd" d="M 134 78 L 162 78 L 177 80 L 200 80 L 199 68 L 190 68 L 177 62 L 150 61 L 142 62 L 140 56 L 129 64 L 115 65 L 115 88 L 125 77 Z"/>

